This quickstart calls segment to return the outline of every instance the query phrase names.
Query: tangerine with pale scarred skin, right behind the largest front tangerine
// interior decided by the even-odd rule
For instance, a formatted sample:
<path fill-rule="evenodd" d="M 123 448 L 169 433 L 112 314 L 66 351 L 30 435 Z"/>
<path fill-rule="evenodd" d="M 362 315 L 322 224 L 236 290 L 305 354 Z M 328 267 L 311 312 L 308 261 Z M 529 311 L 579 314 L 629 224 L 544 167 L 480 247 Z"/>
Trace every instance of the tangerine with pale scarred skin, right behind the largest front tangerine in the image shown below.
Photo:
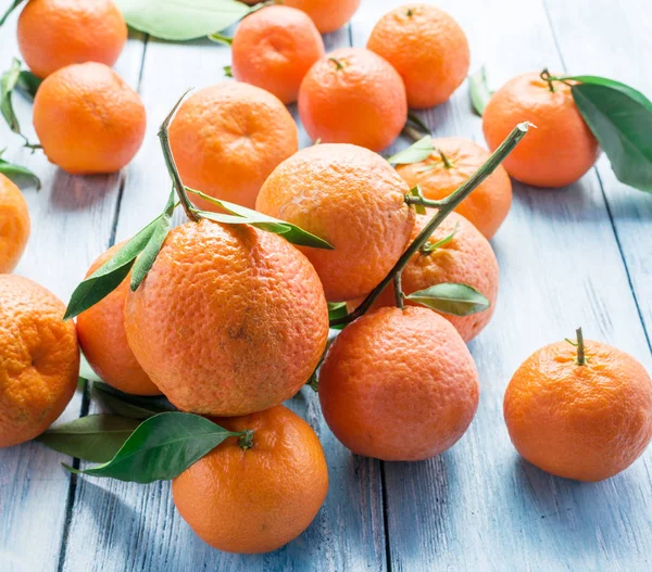
<path fill-rule="evenodd" d="M 301 247 L 329 301 L 369 292 L 399 259 L 414 227 L 410 189 L 380 155 L 319 144 L 284 161 L 263 185 L 256 209 L 298 225 L 335 250 Z"/>

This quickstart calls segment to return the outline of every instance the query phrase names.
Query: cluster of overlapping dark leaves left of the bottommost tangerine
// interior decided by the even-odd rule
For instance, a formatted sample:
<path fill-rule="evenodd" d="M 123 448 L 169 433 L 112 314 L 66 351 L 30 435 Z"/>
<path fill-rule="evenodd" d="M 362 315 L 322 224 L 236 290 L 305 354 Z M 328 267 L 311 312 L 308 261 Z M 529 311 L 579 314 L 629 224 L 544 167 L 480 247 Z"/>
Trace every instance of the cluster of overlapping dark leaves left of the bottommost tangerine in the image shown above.
<path fill-rule="evenodd" d="M 101 463 L 84 470 L 64 463 L 76 473 L 136 483 L 170 480 L 227 437 L 246 434 L 177 411 L 163 397 L 128 395 L 101 381 L 92 382 L 91 395 L 115 414 L 82 417 L 37 437 L 54 450 Z"/>

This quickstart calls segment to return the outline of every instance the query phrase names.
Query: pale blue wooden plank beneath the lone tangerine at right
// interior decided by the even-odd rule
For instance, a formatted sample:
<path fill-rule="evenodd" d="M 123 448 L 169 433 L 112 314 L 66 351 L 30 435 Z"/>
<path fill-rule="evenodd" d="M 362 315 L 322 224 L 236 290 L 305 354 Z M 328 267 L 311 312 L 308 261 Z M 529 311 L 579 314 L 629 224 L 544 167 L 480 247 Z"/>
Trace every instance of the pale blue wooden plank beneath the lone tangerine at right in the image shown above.
<path fill-rule="evenodd" d="M 586 3 L 588 38 L 600 9 Z M 627 12 L 629 3 L 619 11 Z M 387 9 L 400 2 L 383 4 Z M 462 24 L 472 45 L 472 69 L 488 63 L 492 86 L 544 65 L 561 66 L 540 1 L 438 4 Z M 560 12 L 568 8 L 557 5 Z M 376 8 L 367 4 L 368 16 L 363 12 L 354 20 L 354 45 L 365 43 Z M 611 12 L 602 14 L 605 23 Z M 564 37 L 570 41 L 577 12 L 566 18 Z M 634 29 L 644 22 L 642 14 L 639 20 L 631 23 Z M 611 34 L 609 46 L 617 42 Z M 606 35 L 605 28 L 593 41 Z M 601 55 L 618 66 L 609 46 Z M 645 62 L 652 54 L 647 53 L 639 49 L 636 58 Z M 423 116 L 437 136 L 461 135 L 484 143 L 466 86 Z M 391 569 L 649 570 L 651 450 L 610 481 L 581 484 L 539 471 L 519 459 L 510 443 L 502 399 L 513 371 L 532 351 L 572 335 L 578 325 L 586 335 L 630 352 L 649 370 L 652 365 L 595 174 L 565 190 L 522 185 L 514 190 L 513 209 L 492 241 L 501 266 L 497 313 L 471 344 L 481 383 L 477 417 L 442 456 L 384 463 Z M 636 199 L 635 208 L 640 208 L 648 198 Z M 636 225 L 639 237 L 647 230 L 644 219 L 628 223 Z M 639 255 L 649 264 L 650 254 L 640 244 Z"/>

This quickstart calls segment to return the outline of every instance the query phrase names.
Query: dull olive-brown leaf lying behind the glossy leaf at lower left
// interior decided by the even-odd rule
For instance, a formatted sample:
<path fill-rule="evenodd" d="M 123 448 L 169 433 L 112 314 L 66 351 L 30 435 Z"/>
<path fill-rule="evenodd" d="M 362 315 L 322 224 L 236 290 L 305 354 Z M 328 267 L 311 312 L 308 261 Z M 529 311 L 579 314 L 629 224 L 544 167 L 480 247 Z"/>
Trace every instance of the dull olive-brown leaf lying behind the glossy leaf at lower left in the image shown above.
<path fill-rule="evenodd" d="M 49 429 L 36 441 L 77 459 L 106 462 L 137 427 L 135 419 L 116 415 L 89 415 Z"/>

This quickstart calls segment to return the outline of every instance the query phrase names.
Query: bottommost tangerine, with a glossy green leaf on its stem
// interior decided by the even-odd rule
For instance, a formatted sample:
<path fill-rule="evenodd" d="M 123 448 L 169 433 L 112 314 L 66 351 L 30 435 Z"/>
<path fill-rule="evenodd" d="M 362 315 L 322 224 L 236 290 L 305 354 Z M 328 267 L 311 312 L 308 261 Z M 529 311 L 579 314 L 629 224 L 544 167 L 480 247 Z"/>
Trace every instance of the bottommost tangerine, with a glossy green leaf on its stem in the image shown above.
<path fill-rule="evenodd" d="M 240 554 L 268 552 L 299 536 L 328 491 L 328 469 L 315 432 L 278 406 L 214 419 L 234 432 L 252 430 L 250 448 L 229 437 L 172 482 L 174 504 L 205 543 Z"/>

